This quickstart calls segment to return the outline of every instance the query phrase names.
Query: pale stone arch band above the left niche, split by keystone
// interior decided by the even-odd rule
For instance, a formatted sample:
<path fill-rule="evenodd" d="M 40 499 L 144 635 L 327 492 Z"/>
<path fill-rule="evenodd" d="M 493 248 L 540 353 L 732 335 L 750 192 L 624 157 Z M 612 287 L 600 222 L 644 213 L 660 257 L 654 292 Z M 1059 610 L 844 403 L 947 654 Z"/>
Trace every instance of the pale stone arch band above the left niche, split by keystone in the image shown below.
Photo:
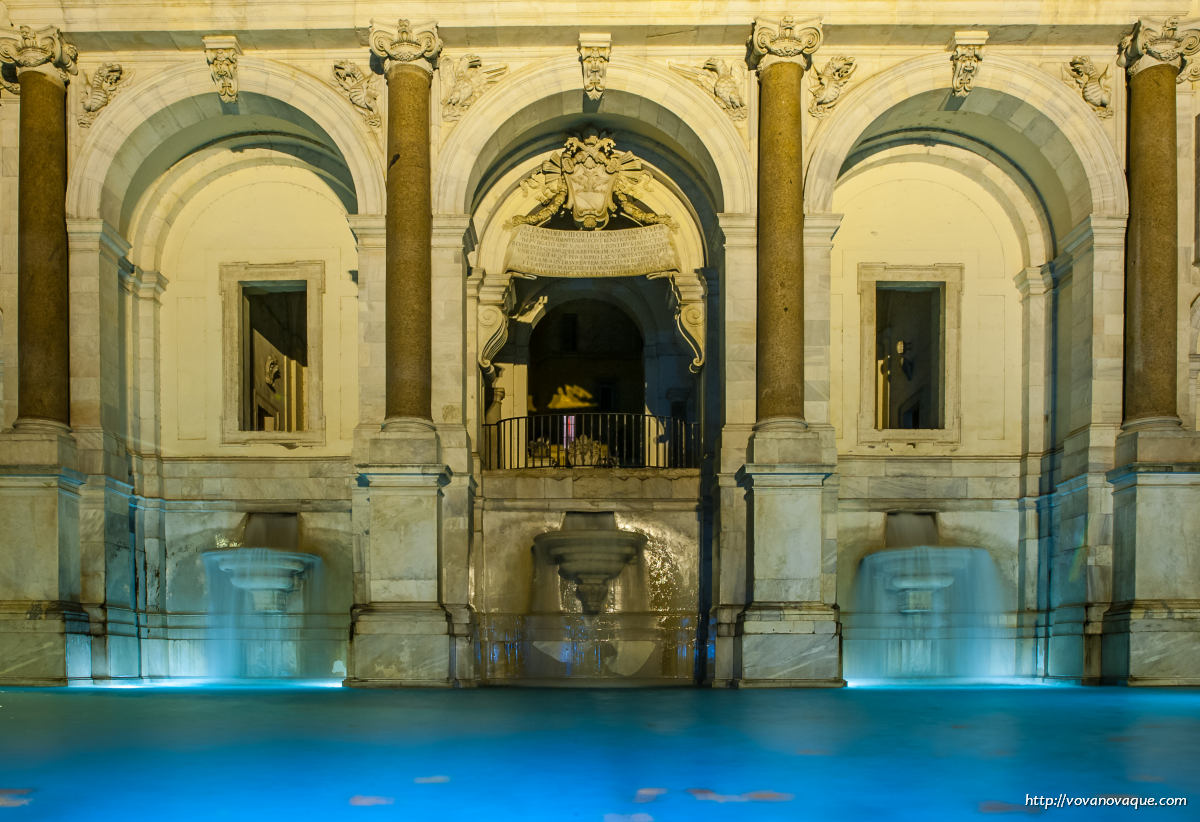
<path fill-rule="evenodd" d="M 353 181 L 358 212 L 383 214 L 384 174 L 376 137 L 359 118 L 352 115 L 349 103 L 331 86 L 293 67 L 253 56 L 239 60 L 238 80 L 241 92 L 262 95 L 302 112 L 323 130 L 336 146 Z M 151 143 L 142 136 L 134 138 L 139 126 L 188 98 L 214 94 L 208 67 L 197 60 L 164 71 L 152 82 L 138 83 L 118 96 L 102 112 L 79 150 L 67 184 L 67 215 L 102 217 L 109 224 L 120 227 L 128 198 L 140 196 L 140 192 L 131 191 L 134 178 L 157 146 L 157 142 Z M 179 124 L 172 125 L 174 131 L 179 130 Z M 169 134 L 154 137 L 161 140 Z M 151 182 L 146 180 L 144 185 Z"/>

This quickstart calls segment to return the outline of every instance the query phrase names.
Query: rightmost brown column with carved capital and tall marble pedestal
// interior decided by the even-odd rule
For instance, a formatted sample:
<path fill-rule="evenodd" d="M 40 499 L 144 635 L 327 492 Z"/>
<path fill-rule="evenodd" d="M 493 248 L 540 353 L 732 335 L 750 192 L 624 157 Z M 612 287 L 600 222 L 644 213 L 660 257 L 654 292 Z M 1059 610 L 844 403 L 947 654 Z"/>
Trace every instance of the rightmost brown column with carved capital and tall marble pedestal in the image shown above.
<path fill-rule="evenodd" d="M 1183 29 L 1181 31 L 1180 29 Z M 1129 77 L 1124 415 L 1112 486 L 1112 605 L 1100 678 L 1200 684 L 1200 436 L 1176 414 L 1176 85 L 1200 77 L 1196 25 L 1139 20 L 1117 61 Z"/>

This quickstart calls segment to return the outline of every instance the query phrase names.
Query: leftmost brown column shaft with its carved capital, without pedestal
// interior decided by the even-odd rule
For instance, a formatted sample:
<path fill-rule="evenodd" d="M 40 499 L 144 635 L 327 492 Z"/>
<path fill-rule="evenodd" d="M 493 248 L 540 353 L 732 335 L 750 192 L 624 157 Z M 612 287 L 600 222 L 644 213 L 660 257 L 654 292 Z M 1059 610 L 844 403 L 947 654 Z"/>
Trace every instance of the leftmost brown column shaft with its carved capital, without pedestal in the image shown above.
<path fill-rule="evenodd" d="M 66 428 L 66 86 L 77 52 L 54 28 L 0 35 L 0 62 L 20 85 L 17 167 L 17 426 Z"/>

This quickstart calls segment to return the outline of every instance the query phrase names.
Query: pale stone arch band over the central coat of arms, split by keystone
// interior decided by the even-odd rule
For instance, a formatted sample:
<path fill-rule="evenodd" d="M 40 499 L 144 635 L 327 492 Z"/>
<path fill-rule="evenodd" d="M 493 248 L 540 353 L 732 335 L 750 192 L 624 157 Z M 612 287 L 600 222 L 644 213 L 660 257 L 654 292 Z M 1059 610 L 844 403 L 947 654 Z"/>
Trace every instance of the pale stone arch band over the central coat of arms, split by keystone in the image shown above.
<path fill-rule="evenodd" d="M 625 92 L 630 101 L 671 101 L 677 122 L 666 126 L 667 137 L 695 140 L 710 161 L 714 180 L 708 180 L 720 211 L 744 214 L 754 206 L 754 173 L 745 142 L 716 102 L 682 77 L 647 61 L 614 60 L 608 65 L 608 91 Z M 515 72 L 475 103 L 442 146 L 433 170 L 433 210 L 442 214 L 470 211 L 474 173 L 479 158 L 496 142 L 497 124 L 506 122 L 539 101 L 583 89 L 577 58 L 556 58 Z M 607 92 L 606 92 L 607 94 Z M 640 119 L 642 112 L 613 112 Z M 686 130 L 688 133 L 684 133 Z"/>

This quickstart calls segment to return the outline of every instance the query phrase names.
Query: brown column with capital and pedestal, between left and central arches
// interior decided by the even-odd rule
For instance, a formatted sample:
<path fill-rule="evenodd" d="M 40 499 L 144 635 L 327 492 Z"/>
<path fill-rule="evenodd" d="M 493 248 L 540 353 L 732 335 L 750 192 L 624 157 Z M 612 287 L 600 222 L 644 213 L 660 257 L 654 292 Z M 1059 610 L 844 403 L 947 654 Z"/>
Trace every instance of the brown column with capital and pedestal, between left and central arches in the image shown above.
<path fill-rule="evenodd" d="M 430 83 L 442 41 L 434 25 L 400 20 L 396 30 L 372 25 L 370 43 L 388 78 L 384 421 L 355 448 L 361 553 L 346 682 L 450 685 L 455 622 L 443 605 L 442 554 L 444 488 L 454 472 L 431 419 Z"/>

